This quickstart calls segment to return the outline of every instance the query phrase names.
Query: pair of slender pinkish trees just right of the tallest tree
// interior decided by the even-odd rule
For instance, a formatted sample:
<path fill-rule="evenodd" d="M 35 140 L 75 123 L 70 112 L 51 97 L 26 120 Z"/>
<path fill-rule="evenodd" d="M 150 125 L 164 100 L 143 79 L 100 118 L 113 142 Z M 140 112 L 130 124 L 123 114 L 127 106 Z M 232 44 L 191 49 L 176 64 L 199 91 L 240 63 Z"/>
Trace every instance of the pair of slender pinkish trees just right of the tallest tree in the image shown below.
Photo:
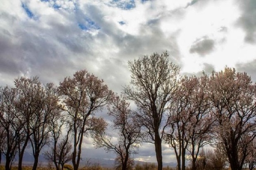
<path fill-rule="evenodd" d="M 209 115 L 208 80 L 207 75 L 184 76 L 173 97 L 165 140 L 175 151 L 179 170 L 185 170 L 186 150 L 191 154 L 192 170 L 196 170 L 199 151 L 211 140 L 214 120 Z"/>

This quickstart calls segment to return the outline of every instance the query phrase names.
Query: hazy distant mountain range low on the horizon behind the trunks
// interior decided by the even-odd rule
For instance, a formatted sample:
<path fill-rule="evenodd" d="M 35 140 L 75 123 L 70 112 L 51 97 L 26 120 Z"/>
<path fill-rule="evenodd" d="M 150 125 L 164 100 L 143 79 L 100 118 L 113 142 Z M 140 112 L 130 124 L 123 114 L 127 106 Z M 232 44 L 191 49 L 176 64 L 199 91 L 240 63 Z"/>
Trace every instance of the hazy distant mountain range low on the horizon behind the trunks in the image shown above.
<path fill-rule="evenodd" d="M 16 158 L 16 161 L 14 162 L 14 165 L 16 165 L 18 162 L 18 158 Z M 5 162 L 5 156 L 2 156 L 2 163 Z M 23 165 L 33 165 L 34 157 L 32 153 L 25 152 L 23 156 Z M 146 162 L 142 161 L 135 161 L 135 164 L 144 164 Z M 150 162 L 147 162 L 150 163 Z M 70 162 L 70 164 L 72 164 Z M 48 161 L 44 158 L 43 154 L 39 156 L 39 163 L 38 165 L 48 165 Z M 112 168 L 115 165 L 115 161 L 113 159 L 105 159 L 105 158 L 83 158 L 80 161 L 80 166 L 92 166 L 92 165 L 100 165 L 105 168 Z M 170 163 L 163 163 L 163 166 L 169 166 L 169 167 L 176 167 L 176 163 L 170 162 Z"/>

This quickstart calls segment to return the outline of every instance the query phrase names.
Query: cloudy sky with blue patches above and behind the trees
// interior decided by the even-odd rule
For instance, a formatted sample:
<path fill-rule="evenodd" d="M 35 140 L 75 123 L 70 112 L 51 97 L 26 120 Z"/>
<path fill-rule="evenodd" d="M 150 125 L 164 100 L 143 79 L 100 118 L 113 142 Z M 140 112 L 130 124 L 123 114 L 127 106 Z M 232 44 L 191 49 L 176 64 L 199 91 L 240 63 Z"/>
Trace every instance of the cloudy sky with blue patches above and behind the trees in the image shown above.
<path fill-rule="evenodd" d="M 163 51 L 183 75 L 228 66 L 256 82 L 256 0 L 1 0 L 0 86 L 20 76 L 58 85 L 87 69 L 120 93 L 128 61 Z M 88 155 L 115 157 L 85 137 Z M 153 145 L 135 160 L 156 162 Z M 163 161 L 175 161 L 168 145 Z"/>

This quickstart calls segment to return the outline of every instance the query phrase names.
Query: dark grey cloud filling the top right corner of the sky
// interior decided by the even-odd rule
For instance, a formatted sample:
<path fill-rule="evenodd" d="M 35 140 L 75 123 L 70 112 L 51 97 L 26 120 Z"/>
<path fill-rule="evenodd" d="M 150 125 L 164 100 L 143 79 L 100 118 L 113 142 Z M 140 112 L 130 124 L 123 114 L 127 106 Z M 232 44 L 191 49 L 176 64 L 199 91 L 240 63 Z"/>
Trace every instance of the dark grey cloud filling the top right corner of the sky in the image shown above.
<path fill-rule="evenodd" d="M 237 0 L 242 10 L 237 24 L 241 26 L 246 35 L 244 41 L 248 43 L 256 42 L 256 0 Z"/>

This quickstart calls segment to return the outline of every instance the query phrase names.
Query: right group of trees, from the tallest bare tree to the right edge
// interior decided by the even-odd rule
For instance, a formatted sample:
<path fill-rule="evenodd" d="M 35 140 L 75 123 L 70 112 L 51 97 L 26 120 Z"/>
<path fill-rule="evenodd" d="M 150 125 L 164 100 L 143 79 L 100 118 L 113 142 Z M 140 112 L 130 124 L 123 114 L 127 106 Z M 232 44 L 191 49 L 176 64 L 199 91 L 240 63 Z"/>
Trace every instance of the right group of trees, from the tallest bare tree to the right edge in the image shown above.
<path fill-rule="evenodd" d="M 232 170 L 242 170 L 245 163 L 255 165 L 256 85 L 250 76 L 231 68 L 180 76 L 166 52 L 129 66 L 132 81 L 123 93 L 137 105 L 136 118 L 147 134 L 144 140 L 155 145 L 158 170 L 163 140 L 174 149 L 179 170 L 185 170 L 187 151 L 196 170 L 197 156 L 206 144 L 220 149 Z"/>

